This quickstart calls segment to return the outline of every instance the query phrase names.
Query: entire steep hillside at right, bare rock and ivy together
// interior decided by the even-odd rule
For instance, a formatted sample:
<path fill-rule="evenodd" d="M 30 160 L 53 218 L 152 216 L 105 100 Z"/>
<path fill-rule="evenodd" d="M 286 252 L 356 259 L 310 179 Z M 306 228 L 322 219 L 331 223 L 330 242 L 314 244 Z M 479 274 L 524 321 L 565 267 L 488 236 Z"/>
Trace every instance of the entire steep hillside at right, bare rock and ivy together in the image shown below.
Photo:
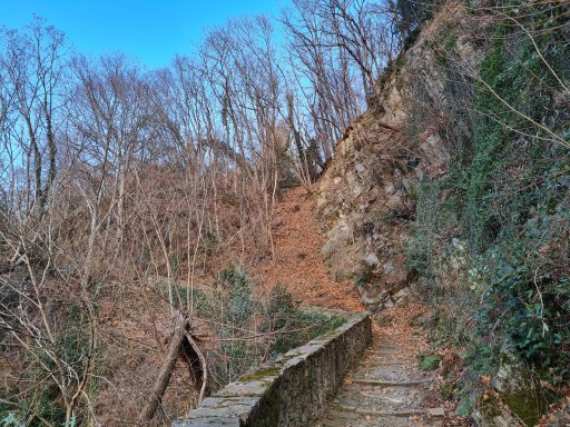
<path fill-rule="evenodd" d="M 373 310 L 430 301 L 436 342 L 463 351 L 446 394 L 484 426 L 534 425 L 568 394 L 568 14 L 440 7 L 315 193 L 334 276 Z"/>

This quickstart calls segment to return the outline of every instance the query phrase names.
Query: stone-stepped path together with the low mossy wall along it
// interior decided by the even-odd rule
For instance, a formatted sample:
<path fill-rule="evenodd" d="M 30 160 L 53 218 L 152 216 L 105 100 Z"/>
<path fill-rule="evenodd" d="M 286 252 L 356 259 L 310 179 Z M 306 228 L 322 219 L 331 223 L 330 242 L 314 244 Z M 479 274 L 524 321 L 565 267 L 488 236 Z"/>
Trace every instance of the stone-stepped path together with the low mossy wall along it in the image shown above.
<path fill-rule="evenodd" d="M 367 346 L 372 319 L 353 314 L 218 390 L 173 427 L 442 427 L 436 379 L 420 370 L 410 331 L 394 328 Z"/>

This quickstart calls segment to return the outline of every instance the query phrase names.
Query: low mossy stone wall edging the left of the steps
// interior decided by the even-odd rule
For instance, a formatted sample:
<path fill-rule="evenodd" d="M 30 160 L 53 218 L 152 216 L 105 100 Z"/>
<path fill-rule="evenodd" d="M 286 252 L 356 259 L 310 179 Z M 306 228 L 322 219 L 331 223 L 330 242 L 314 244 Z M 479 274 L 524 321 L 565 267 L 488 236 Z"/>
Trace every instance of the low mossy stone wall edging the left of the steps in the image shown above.
<path fill-rule="evenodd" d="M 174 427 L 308 426 L 372 339 L 367 314 L 244 375 L 208 397 Z"/>

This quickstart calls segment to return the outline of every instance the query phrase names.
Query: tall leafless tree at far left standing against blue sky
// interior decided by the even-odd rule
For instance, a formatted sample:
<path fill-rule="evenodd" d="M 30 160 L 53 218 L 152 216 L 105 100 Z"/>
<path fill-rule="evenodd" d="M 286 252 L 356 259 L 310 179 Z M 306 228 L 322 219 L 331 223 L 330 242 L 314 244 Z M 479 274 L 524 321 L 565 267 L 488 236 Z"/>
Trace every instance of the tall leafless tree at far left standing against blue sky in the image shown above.
<path fill-rule="evenodd" d="M 43 208 L 57 173 L 57 117 L 65 96 L 62 57 L 65 37 L 37 19 L 26 32 L 4 30 L 6 46 L 0 68 L 10 100 L 10 129 L 4 136 L 23 156 L 27 176 L 31 173 L 27 207 Z M 4 111 L 6 113 L 6 111 Z M 47 151 L 47 155 L 46 155 Z M 47 167 L 45 166 L 47 163 Z M 31 198 L 33 197 L 33 199 Z"/>

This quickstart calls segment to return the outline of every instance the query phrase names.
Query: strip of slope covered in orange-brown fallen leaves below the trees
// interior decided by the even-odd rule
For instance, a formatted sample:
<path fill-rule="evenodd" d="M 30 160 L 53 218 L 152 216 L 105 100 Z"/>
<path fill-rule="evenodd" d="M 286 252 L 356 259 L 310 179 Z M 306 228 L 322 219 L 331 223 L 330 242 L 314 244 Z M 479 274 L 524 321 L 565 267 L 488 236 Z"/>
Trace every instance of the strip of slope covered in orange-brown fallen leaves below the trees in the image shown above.
<path fill-rule="evenodd" d="M 302 187 L 288 190 L 275 210 L 275 260 L 253 270 L 259 286 L 268 291 L 281 284 L 305 305 L 362 310 L 352 281 L 335 282 L 328 278 L 321 257 L 323 237 L 316 231 L 306 190 Z"/>

